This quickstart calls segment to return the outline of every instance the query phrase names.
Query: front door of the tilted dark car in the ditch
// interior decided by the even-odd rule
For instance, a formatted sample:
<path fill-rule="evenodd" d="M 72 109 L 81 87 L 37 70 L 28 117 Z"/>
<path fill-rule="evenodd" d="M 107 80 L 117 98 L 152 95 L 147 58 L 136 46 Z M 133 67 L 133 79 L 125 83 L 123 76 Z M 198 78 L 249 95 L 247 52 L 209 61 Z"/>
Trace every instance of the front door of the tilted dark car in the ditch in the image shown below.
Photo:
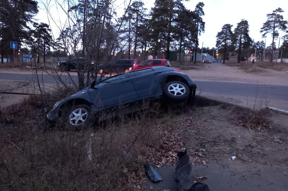
<path fill-rule="evenodd" d="M 98 108 L 117 106 L 138 98 L 126 73 L 98 82 L 93 89 L 89 90 L 89 95 Z"/>

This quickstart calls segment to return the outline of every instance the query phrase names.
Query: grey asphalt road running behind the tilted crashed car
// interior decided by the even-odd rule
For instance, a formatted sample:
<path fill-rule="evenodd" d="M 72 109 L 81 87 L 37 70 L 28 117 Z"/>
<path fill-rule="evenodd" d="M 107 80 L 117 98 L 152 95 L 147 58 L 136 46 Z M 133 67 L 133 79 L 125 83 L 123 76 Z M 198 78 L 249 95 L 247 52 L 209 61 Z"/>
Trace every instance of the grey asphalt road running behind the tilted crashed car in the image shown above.
<path fill-rule="evenodd" d="M 71 75 L 76 80 L 76 75 Z M 69 82 L 68 77 L 63 75 L 62 80 Z M 35 80 L 35 75 L 32 74 L 14 74 L 0 73 L 0 80 L 19 80 L 30 81 Z M 39 74 L 39 80 L 44 83 L 55 82 L 49 74 Z M 217 82 L 217 81 L 195 81 L 197 91 L 208 93 L 215 96 L 225 96 L 239 100 L 247 100 L 250 103 L 257 97 L 258 100 L 269 102 L 269 106 L 288 110 L 288 85 L 264 85 L 253 83 L 237 83 L 237 82 Z"/>

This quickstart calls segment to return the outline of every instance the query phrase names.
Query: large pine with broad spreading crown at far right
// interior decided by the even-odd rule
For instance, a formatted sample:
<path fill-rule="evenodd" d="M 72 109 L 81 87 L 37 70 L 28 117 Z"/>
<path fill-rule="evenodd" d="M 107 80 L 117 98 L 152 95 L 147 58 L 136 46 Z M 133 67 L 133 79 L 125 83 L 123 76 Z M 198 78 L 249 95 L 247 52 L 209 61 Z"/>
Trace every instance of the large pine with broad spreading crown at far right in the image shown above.
<path fill-rule="evenodd" d="M 287 29 L 287 21 L 283 20 L 283 16 L 278 13 L 283 13 L 284 11 L 279 7 L 274 10 L 272 13 L 267 14 L 267 21 L 263 23 L 263 27 L 260 30 L 260 33 L 263 33 L 262 36 L 265 37 L 266 34 L 271 33 L 272 43 L 274 44 L 274 39 L 279 36 L 278 30 L 285 31 Z M 274 46 L 271 46 L 271 58 L 270 61 L 273 62 L 273 51 Z"/>

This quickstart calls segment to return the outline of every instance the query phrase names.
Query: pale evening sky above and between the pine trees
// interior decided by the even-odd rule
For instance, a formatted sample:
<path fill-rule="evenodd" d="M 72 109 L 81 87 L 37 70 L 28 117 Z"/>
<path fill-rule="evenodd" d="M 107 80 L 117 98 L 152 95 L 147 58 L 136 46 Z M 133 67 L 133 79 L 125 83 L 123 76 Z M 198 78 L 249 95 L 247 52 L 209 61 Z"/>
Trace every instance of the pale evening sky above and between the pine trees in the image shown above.
<path fill-rule="evenodd" d="M 58 0 L 61 1 L 61 0 Z M 63 0 L 64 1 L 64 0 Z M 123 9 L 127 0 L 116 0 L 116 12 L 118 15 L 123 14 Z M 154 0 L 143 0 L 145 7 L 150 11 L 154 6 Z M 199 1 L 190 0 L 183 1 L 183 4 L 187 9 L 194 10 L 196 4 Z M 232 30 L 237 26 L 237 23 L 241 19 L 246 19 L 249 24 L 250 37 L 254 41 L 264 40 L 260 34 L 260 28 L 267 20 L 266 14 L 272 13 L 273 10 L 281 7 L 284 12 L 282 13 L 285 20 L 288 20 L 288 1 L 286 0 L 202 0 L 205 4 L 204 13 L 202 17 L 205 22 L 205 32 L 199 36 L 199 47 L 215 47 L 216 35 L 225 24 L 233 25 Z M 45 4 L 45 6 L 44 6 Z M 61 6 L 65 9 L 65 3 L 61 6 L 53 0 L 38 0 L 40 7 L 37 15 L 38 22 L 44 22 L 51 26 L 52 34 L 57 38 L 59 25 L 64 25 L 67 16 L 61 10 Z M 47 11 L 47 9 L 49 11 Z M 52 21 L 52 19 L 54 22 Z M 189 19 L 189 18 L 187 18 Z M 280 32 L 280 36 L 285 33 Z M 271 35 L 266 37 L 266 46 L 272 43 Z M 278 47 L 279 39 L 276 40 L 276 46 Z M 282 41 L 280 42 L 281 45 Z"/>

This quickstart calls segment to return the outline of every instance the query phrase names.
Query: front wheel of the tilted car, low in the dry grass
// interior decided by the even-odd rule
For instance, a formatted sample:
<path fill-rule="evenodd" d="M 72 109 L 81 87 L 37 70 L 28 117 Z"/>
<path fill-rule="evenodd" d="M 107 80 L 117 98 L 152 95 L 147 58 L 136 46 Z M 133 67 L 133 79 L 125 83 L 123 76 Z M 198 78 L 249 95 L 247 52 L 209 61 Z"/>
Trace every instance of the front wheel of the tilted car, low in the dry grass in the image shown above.
<path fill-rule="evenodd" d="M 80 130 L 86 129 L 91 125 L 94 119 L 94 114 L 92 114 L 90 106 L 80 104 L 67 109 L 64 117 L 64 123 L 66 123 L 71 129 Z"/>

